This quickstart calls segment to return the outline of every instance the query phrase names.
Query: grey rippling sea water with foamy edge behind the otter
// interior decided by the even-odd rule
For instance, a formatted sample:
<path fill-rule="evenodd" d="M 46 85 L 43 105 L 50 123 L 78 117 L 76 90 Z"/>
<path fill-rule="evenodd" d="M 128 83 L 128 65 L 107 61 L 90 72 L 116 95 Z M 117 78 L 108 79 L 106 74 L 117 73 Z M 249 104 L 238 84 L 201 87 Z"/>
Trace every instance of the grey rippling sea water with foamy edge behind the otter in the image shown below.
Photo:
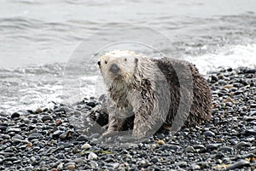
<path fill-rule="evenodd" d="M 86 37 L 119 23 L 148 26 L 164 33 L 170 42 L 166 46 L 158 40 L 155 45 L 159 50 L 195 63 L 204 75 L 219 66 L 256 66 L 254 0 L 2 0 L 0 112 L 36 109 L 52 105 L 50 101 L 65 101 L 69 94 L 63 91 L 72 86 L 77 89 L 77 100 L 98 93 L 102 88 L 95 87 L 100 78 L 95 74 L 94 62 L 89 61 L 83 73 L 71 68 L 77 74 L 75 77 L 63 77 L 64 67 L 79 43 L 91 42 Z M 138 28 L 138 32 L 143 31 Z M 108 32 L 98 41 L 108 43 L 115 36 L 116 32 Z M 151 36 L 154 35 L 149 39 Z M 146 48 L 137 48 L 148 52 Z M 63 80 L 74 78 L 71 87 L 62 87 Z"/>

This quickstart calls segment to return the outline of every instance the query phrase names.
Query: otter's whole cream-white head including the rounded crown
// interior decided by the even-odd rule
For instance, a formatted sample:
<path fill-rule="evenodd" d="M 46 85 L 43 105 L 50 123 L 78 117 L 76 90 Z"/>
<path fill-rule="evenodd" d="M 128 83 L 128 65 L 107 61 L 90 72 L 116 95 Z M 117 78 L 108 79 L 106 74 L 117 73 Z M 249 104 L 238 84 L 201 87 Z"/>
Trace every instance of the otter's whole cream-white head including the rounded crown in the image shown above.
<path fill-rule="evenodd" d="M 104 82 L 108 88 L 126 87 L 133 80 L 137 67 L 137 54 L 131 51 L 111 51 L 98 61 Z"/>

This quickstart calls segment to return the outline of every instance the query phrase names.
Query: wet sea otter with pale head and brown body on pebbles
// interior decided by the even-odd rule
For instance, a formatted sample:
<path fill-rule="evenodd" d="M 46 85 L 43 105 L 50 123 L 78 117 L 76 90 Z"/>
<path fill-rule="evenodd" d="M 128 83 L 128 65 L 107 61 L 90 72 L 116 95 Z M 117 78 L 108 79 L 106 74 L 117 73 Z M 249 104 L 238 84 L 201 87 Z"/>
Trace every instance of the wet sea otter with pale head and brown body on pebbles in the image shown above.
<path fill-rule="evenodd" d="M 180 103 L 185 107 L 179 117 L 185 119 L 186 124 L 197 125 L 211 119 L 211 90 L 195 66 L 187 61 L 154 60 L 143 54 L 118 50 L 104 54 L 98 65 L 108 88 L 109 117 L 105 135 L 121 131 L 126 119 L 133 114 L 132 135 L 139 138 L 151 134 L 162 124 L 172 126 L 177 111 L 181 110 Z M 191 87 L 181 83 L 181 80 L 189 83 L 189 77 Z"/>

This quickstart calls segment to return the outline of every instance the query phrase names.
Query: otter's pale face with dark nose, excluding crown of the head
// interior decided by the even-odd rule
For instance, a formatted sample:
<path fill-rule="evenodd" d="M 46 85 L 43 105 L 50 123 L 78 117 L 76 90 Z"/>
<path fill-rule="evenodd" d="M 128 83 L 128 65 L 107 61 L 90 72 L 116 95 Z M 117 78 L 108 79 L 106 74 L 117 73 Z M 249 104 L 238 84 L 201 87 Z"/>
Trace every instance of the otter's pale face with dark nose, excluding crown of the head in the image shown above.
<path fill-rule="evenodd" d="M 104 82 L 108 86 L 116 83 L 129 83 L 134 72 L 135 60 L 131 56 L 116 57 L 103 55 L 97 62 Z"/>

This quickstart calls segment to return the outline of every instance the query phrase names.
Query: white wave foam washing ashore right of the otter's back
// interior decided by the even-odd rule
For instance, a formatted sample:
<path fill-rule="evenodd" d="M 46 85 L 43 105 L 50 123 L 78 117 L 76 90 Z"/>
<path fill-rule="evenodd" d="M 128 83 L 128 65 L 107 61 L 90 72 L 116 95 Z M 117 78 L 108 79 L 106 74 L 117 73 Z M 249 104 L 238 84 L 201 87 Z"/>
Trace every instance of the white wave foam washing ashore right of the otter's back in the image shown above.
<path fill-rule="evenodd" d="M 185 56 L 203 75 L 216 71 L 218 67 L 256 67 L 256 44 L 224 46 L 217 54 Z"/>

